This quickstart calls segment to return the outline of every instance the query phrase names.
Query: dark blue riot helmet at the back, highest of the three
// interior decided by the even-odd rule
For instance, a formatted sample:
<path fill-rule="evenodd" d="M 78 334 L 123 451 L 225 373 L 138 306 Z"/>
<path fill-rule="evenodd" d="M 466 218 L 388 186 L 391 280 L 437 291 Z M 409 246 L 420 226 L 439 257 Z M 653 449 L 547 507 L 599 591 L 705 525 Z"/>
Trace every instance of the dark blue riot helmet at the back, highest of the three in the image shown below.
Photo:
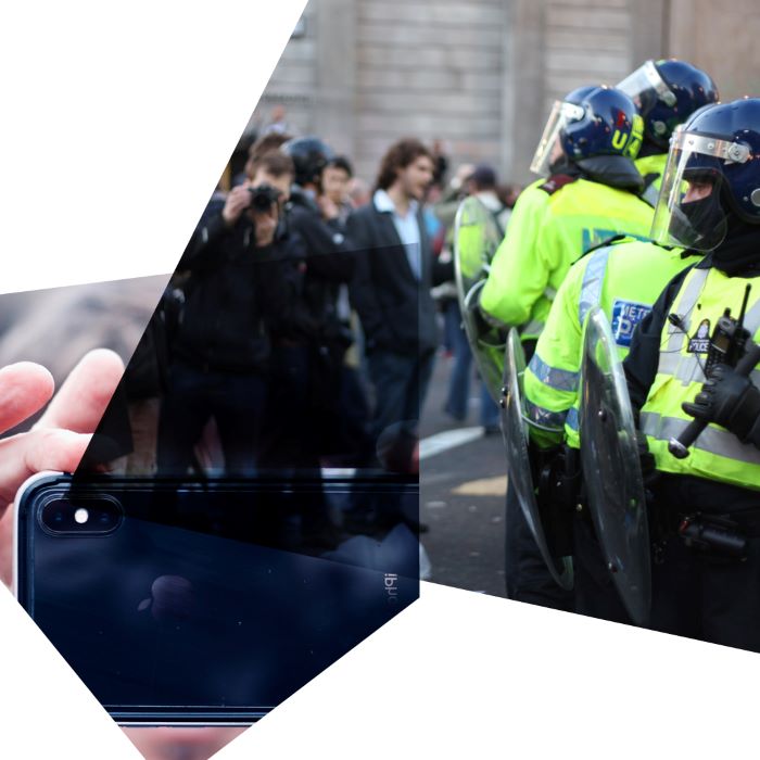
<path fill-rule="evenodd" d="M 718 102 L 718 88 L 710 76 L 675 59 L 647 61 L 617 88 L 636 104 L 644 119 L 645 138 L 663 153 L 679 124 L 702 105 Z"/>

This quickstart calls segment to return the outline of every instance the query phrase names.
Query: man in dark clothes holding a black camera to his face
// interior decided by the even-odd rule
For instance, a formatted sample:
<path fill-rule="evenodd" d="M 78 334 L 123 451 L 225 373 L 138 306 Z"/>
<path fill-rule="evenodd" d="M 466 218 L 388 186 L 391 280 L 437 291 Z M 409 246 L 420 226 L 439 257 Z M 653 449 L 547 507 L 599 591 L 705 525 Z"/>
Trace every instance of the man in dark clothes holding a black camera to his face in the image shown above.
<path fill-rule="evenodd" d="M 249 182 L 202 219 L 180 261 L 185 306 L 169 352 L 159 422 L 157 467 L 183 474 L 213 417 L 227 473 L 256 465 L 268 392 L 270 335 L 293 303 L 292 266 L 302 253 L 280 224 L 292 161 L 259 157 Z"/>

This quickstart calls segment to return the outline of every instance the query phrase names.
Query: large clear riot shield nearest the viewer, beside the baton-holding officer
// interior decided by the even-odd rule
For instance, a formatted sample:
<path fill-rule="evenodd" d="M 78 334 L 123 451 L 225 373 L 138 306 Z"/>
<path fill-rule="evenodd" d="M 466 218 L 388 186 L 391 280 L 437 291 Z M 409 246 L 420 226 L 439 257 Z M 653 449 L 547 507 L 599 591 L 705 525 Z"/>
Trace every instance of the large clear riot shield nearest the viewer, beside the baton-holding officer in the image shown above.
<path fill-rule="evenodd" d="M 651 603 L 646 497 L 622 364 L 605 313 L 594 307 L 581 365 L 581 460 L 605 562 L 637 625 Z"/>

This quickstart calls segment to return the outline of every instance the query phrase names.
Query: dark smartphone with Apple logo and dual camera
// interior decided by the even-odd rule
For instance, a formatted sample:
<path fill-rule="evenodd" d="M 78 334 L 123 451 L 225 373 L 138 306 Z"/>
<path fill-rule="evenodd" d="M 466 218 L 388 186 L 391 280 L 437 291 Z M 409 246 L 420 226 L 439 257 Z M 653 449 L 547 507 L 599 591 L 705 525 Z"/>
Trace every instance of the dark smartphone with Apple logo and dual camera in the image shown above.
<path fill-rule="evenodd" d="M 45 473 L 16 498 L 14 588 L 119 724 L 248 725 L 417 598 L 417 499 Z"/>

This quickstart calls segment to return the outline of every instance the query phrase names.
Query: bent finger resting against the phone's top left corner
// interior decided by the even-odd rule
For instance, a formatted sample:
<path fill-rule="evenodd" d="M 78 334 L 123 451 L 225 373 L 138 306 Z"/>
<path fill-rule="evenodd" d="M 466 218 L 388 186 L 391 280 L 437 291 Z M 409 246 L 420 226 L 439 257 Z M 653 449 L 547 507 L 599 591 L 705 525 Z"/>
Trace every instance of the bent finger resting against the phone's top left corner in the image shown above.
<path fill-rule="evenodd" d="M 74 472 L 90 438 L 48 428 L 0 441 L 0 517 L 21 484 L 36 472 Z"/>

